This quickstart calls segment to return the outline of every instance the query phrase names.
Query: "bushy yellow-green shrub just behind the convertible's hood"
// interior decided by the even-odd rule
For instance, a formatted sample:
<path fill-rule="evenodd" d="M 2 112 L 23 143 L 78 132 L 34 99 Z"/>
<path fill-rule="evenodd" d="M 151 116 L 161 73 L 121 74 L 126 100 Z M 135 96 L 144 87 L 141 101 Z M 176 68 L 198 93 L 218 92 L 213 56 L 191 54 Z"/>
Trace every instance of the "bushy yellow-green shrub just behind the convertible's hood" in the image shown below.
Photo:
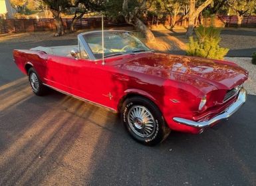
<path fill-rule="evenodd" d="M 196 39 L 190 37 L 186 53 L 190 56 L 201 56 L 205 58 L 223 59 L 229 51 L 228 48 L 219 46 L 220 29 L 215 27 L 203 27 L 200 25 L 195 29 Z"/>

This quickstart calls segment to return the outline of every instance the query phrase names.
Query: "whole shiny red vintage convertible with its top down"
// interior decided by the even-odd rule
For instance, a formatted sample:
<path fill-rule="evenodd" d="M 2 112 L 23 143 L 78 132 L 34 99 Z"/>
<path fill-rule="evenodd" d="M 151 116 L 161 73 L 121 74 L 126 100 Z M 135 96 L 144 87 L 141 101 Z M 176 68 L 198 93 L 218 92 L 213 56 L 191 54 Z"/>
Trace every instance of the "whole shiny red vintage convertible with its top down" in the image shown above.
<path fill-rule="evenodd" d="M 237 64 L 157 53 L 128 31 L 102 35 L 82 33 L 77 46 L 14 50 L 14 60 L 36 95 L 49 87 L 114 110 L 145 145 L 171 130 L 199 134 L 245 103 L 248 72 Z"/>

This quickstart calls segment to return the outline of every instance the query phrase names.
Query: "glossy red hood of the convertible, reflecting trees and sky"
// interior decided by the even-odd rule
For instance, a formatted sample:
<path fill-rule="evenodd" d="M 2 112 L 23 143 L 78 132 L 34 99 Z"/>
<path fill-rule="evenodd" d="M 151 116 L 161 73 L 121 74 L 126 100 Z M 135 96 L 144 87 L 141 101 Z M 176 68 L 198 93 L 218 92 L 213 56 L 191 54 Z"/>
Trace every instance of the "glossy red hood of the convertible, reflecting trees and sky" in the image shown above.
<path fill-rule="evenodd" d="M 231 89 L 242 84 L 248 72 L 233 62 L 211 60 L 192 56 L 161 53 L 141 53 L 116 61 L 119 68 L 158 76 L 178 82 L 205 86 L 211 84 L 218 89 Z M 199 83 L 200 82 L 200 83 Z"/>

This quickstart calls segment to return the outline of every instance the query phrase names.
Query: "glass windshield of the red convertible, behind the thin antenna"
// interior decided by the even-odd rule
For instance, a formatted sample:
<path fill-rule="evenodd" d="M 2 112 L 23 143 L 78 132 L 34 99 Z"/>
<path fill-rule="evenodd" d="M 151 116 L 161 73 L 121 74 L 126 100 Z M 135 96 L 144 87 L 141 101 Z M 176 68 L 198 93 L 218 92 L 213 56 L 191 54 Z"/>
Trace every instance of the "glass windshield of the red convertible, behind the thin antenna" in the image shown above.
<path fill-rule="evenodd" d="M 83 35 L 90 46 L 95 58 L 102 58 L 102 33 L 89 33 Z M 145 52 L 150 49 L 130 32 L 104 32 L 104 56 L 115 56 L 130 52 Z"/>

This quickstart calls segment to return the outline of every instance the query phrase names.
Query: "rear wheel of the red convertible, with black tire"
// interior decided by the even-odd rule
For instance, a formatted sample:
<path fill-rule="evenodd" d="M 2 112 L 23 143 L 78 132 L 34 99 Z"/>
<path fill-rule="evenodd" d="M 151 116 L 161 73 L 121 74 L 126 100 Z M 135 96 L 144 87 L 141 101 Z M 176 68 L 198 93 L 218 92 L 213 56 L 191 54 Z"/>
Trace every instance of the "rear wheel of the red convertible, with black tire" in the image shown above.
<path fill-rule="evenodd" d="M 46 92 L 46 87 L 43 85 L 41 82 L 39 76 L 37 75 L 37 72 L 35 71 L 34 68 L 29 68 L 28 71 L 29 74 L 29 84 L 31 86 L 32 91 L 37 95 L 37 96 L 43 96 Z"/>

